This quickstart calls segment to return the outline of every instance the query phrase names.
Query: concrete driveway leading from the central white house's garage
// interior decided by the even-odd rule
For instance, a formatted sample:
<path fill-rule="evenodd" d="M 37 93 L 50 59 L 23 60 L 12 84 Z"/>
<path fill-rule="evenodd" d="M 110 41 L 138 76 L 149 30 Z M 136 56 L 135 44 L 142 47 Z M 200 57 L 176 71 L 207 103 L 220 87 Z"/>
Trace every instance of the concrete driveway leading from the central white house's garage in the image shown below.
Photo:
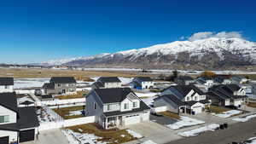
<path fill-rule="evenodd" d="M 144 138 L 139 141 L 152 140 L 156 143 L 166 143 L 170 139 L 174 141 L 181 138 L 181 136 L 175 135 L 176 132 L 174 130 L 151 121 L 133 124 L 128 126 L 127 129 L 134 130 L 143 135 Z M 128 143 L 139 143 L 139 141 L 130 141 Z"/>

